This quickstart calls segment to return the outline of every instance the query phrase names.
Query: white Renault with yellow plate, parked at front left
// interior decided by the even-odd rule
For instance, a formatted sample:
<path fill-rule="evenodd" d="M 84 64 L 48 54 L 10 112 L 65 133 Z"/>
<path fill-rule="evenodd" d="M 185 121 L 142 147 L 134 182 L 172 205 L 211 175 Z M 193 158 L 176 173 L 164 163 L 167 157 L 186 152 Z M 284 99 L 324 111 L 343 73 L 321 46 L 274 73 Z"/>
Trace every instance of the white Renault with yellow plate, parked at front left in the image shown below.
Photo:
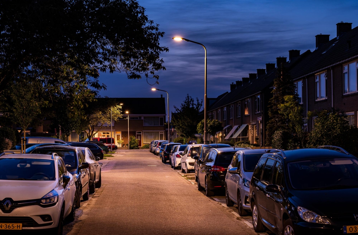
<path fill-rule="evenodd" d="M 76 214 L 76 186 L 62 157 L 45 154 L 0 156 L 0 231 L 51 229 Z M 1 232 L 0 232 L 1 234 Z"/>

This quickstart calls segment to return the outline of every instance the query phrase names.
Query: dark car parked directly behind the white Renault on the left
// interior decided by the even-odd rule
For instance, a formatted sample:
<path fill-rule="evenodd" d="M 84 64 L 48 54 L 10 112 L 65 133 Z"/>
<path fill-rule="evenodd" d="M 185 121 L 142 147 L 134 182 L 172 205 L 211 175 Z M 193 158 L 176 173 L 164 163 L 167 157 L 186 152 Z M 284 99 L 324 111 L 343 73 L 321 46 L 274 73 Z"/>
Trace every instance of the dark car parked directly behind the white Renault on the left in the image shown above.
<path fill-rule="evenodd" d="M 81 149 L 73 146 L 42 146 L 34 149 L 32 154 L 53 154 L 62 157 L 66 169 L 72 174 L 76 184 L 76 208 L 79 208 L 81 197 L 89 198 L 89 164 L 85 161 Z"/>

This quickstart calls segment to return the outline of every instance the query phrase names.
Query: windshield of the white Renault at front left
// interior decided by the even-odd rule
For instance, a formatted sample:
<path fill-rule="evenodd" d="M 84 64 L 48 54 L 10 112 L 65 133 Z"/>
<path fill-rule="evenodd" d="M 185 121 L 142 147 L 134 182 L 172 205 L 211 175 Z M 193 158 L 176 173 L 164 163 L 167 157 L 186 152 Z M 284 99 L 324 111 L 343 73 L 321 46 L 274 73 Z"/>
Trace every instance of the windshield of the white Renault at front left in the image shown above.
<path fill-rule="evenodd" d="M 55 180 L 53 160 L 0 158 L 0 180 Z"/>

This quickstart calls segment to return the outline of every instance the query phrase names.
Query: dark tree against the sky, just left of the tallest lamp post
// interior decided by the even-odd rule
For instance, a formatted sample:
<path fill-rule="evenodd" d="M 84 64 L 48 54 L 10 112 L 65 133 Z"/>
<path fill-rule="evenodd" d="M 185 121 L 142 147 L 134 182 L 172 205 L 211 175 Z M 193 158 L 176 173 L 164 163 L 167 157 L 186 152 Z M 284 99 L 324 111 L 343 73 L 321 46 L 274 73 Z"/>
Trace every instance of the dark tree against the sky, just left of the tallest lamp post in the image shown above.
<path fill-rule="evenodd" d="M 176 106 L 175 115 L 172 115 L 171 122 L 175 126 L 176 131 L 180 132 L 183 137 L 195 137 L 197 126 L 200 119 L 199 112 L 203 106 L 203 100 L 194 102 L 194 99 L 187 94 L 187 97 L 180 105 L 180 109 Z"/>

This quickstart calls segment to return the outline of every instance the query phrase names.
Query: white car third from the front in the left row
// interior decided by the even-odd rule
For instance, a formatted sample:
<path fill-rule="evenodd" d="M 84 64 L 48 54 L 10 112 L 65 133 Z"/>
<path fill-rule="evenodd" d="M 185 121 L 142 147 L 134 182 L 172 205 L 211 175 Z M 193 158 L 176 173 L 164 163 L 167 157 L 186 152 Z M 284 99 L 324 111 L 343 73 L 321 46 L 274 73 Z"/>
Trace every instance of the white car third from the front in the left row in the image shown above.
<path fill-rule="evenodd" d="M 82 150 L 85 160 L 89 164 L 89 193 L 94 194 L 95 189 L 100 188 L 102 185 L 101 165 L 98 163 L 100 158 L 95 157 L 87 147 L 78 148 Z"/>

